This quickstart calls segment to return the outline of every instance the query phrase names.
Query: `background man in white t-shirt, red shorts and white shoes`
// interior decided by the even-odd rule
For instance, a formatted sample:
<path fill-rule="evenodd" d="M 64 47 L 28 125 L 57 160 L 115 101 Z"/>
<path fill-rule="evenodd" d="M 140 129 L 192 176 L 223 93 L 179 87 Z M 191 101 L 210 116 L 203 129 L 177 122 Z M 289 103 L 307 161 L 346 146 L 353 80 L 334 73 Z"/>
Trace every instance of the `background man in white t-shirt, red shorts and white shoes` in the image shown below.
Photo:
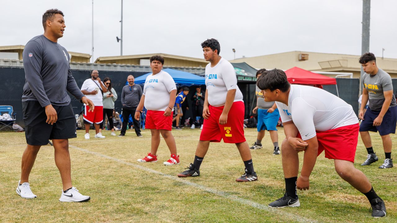
<path fill-rule="evenodd" d="M 89 107 L 84 106 L 84 124 L 85 124 L 85 139 L 90 139 L 90 124 L 95 127 L 95 138 L 105 138 L 100 132 L 99 124 L 103 121 L 103 104 L 102 97 L 103 92 L 108 92 L 108 88 L 100 81 L 98 77 L 99 72 L 97 70 L 91 71 L 91 78 L 84 81 L 83 86 L 81 86 L 81 92 L 91 101 L 94 102 L 96 109 L 89 112 Z"/>

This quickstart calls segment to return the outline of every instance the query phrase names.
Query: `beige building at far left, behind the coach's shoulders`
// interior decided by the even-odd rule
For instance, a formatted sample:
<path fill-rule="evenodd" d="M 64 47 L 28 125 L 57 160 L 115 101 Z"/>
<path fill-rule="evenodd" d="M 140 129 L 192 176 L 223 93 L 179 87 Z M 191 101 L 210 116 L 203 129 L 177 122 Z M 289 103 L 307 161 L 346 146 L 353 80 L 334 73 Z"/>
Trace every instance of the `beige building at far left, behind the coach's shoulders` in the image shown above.
<path fill-rule="evenodd" d="M 14 59 L 14 60 L 22 60 L 22 52 L 25 49 L 24 45 L 15 45 L 15 46 L 0 46 L 0 56 L 3 58 L 0 59 Z M 1 54 L 5 53 L 5 54 Z M 7 54 L 11 53 L 11 54 Z M 70 62 L 76 63 L 89 63 L 91 55 L 90 54 L 82 54 L 76 52 L 70 52 Z M 9 57 L 9 58 L 6 58 Z"/>

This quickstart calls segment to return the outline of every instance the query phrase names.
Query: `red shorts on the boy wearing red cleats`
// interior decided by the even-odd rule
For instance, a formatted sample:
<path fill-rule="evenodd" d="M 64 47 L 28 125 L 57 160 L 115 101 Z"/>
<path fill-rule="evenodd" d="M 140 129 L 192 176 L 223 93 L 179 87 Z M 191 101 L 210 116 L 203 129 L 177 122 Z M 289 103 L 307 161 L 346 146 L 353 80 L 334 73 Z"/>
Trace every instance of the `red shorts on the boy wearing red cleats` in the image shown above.
<path fill-rule="evenodd" d="M 166 117 L 164 111 L 152 111 L 146 112 L 145 129 L 164 129 L 171 131 L 172 129 L 172 113 Z"/>

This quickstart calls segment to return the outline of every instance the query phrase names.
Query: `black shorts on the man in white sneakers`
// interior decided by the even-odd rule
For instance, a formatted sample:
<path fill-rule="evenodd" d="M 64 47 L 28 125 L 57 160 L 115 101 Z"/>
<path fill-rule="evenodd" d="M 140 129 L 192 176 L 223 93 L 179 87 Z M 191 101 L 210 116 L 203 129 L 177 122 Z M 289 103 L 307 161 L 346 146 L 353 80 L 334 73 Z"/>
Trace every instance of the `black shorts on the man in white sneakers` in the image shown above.
<path fill-rule="evenodd" d="M 26 142 L 33 146 L 44 146 L 50 139 L 76 138 L 76 118 L 71 104 L 54 107 L 58 120 L 54 125 L 46 123 L 45 108 L 38 101 L 22 102 Z"/>

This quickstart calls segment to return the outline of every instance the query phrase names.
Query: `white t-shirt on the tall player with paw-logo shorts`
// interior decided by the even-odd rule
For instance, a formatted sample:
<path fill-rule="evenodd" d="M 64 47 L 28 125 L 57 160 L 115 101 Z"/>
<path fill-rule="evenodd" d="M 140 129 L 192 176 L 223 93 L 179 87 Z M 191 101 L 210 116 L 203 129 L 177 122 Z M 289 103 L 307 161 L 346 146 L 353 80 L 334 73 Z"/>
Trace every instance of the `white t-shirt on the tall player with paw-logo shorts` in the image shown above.
<path fill-rule="evenodd" d="M 212 106 L 224 106 L 228 90 L 236 89 L 233 102 L 243 101 L 243 94 L 237 86 L 236 71 L 230 62 L 221 58 L 211 67 L 208 63 L 205 67 L 205 86 L 208 92 L 208 103 Z"/>

